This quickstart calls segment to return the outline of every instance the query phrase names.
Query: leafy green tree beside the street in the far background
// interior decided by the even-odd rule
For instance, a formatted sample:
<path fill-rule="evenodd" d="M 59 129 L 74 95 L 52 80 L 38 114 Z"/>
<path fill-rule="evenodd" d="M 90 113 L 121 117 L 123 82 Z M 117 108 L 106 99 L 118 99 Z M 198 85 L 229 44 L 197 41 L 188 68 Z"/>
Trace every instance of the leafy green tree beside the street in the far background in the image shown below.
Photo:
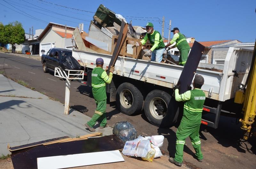
<path fill-rule="evenodd" d="M 0 26 L 0 29 L 1 29 L 1 26 Z M 26 39 L 25 31 L 22 28 L 21 23 L 18 21 L 10 22 L 9 24 L 5 25 L 3 36 L 4 37 L 1 39 L 1 33 L 0 33 L 0 40 L 6 44 L 7 43 L 12 44 L 12 49 L 16 43 L 20 45 Z"/>

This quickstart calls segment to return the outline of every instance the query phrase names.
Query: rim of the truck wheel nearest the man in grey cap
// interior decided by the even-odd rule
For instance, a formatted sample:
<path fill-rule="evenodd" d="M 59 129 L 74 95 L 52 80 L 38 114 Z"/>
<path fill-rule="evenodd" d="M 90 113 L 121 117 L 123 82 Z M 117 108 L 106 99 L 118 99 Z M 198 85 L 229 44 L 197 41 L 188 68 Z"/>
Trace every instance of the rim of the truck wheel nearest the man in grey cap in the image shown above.
<path fill-rule="evenodd" d="M 161 120 L 167 114 L 167 104 L 164 99 L 155 97 L 149 103 L 149 111 L 155 119 Z"/>

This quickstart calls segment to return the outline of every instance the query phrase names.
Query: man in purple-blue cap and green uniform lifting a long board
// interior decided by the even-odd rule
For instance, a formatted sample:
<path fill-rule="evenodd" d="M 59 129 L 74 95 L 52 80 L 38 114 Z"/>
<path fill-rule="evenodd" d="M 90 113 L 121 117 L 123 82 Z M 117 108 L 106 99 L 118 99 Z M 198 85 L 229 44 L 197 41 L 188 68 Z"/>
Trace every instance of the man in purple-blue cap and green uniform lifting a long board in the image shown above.
<path fill-rule="evenodd" d="M 110 67 L 109 75 L 103 70 L 104 61 L 102 58 L 96 59 L 96 67 L 92 70 L 92 95 L 96 102 L 96 110 L 92 116 L 92 119 L 84 125 L 92 132 L 95 132 L 93 126 L 97 121 L 100 121 L 100 129 L 107 126 L 106 107 L 107 107 L 107 94 L 106 83 L 110 84 L 114 67 Z"/>

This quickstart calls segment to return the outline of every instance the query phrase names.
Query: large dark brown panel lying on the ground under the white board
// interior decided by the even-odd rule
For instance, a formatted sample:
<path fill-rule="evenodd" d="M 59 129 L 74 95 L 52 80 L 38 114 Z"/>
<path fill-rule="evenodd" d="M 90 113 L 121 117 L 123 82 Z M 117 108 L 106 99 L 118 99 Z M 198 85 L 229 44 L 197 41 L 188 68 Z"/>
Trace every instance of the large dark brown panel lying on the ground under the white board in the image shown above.
<path fill-rule="evenodd" d="M 81 154 L 89 152 L 112 151 L 124 148 L 124 143 L 115 135 L 89 138 L 66 143 L 39 145 L 36 147 L 16 151 L 11 155 L 14 169 L 37 168 L 40 157 Z"/>

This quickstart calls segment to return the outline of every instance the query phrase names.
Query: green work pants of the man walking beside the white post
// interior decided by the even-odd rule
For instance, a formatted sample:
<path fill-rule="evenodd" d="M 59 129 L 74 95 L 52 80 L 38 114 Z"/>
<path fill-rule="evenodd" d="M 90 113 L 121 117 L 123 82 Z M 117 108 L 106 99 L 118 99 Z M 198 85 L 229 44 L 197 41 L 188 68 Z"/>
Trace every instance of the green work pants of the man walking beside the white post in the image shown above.
<path fill-rule="evenodd" d="M 96 110 L 92 116 L 92 119 L 87 122 L 90 127 L 93 127 L 97 121 L 100 121 L 100 126 L 105 127 L 107 125 L 107 118 L 106 118 L 106 108 L 107 108 L 107 99 L 100 100 L 96 102 Z"/>

